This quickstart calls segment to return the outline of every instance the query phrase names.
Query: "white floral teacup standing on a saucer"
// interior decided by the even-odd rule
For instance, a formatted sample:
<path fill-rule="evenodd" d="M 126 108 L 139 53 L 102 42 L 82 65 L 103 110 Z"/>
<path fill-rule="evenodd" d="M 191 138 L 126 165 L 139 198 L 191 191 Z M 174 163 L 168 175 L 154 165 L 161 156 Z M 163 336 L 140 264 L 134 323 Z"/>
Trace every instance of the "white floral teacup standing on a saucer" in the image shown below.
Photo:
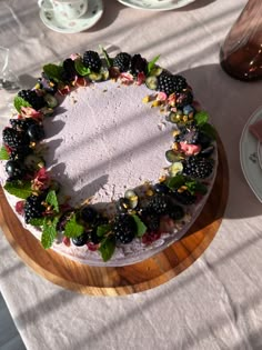
<path fill-rule="evenodd" d="M 88 11 L 88 0 L 38 0 L 38 4 L 60 20 L 73 20 Z"/>

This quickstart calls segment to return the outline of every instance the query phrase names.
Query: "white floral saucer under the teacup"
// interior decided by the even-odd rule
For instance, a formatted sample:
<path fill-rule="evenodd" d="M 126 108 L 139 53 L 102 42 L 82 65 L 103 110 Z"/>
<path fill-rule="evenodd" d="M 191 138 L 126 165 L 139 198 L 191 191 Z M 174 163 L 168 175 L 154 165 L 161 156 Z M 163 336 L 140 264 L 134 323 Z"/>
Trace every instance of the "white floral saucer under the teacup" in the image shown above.
<path fill-rule="evenodd" d="M 103 14 L 103 2 L 102 0 L 89 0 L 88 11 L 80 18 L 74 20 L 64 19 L 60 20 L 54 17 L 53 11 L 40 10 L 40 18 L 48 28 L 59 32 L 59 33 L 79 33 L 93 27 Z"/>

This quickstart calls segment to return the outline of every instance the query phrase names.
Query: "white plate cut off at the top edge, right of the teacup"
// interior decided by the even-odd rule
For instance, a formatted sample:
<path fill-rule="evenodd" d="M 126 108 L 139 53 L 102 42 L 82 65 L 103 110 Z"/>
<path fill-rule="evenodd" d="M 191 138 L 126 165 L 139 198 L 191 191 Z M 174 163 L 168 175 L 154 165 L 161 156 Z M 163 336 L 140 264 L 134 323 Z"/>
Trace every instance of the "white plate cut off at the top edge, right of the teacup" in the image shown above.
<path fill-rule="evenodd" d="M 134 9 L 151 11 L 168 11 L 182 8 L 195 0 L 118 0 L 119 2 Z"/>

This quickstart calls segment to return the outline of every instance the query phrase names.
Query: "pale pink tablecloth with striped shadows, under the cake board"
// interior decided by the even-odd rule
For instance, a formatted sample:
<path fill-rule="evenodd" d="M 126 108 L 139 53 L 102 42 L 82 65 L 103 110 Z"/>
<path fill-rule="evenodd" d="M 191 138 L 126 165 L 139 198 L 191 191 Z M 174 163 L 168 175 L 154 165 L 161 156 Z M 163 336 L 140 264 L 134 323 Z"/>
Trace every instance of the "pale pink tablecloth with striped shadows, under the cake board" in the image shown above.
<path fill-rule="evenodd" d="M 169 282 L 125 297 L 90 297 L 62 289 L 29 269 L 0 234 L 0 290 L 29 350 L 261 349 L 262 216 L 240 167 L 239 140 L 261 104 L 262 83 L 231 79 L 219 49 L 244 0 L 196 0 L 149 12 L 104 1 L 93 28 L 61 34 L 46 28 L 37 1 L 0 2 L 0 42 L 10 68 L 32 86 L 39 67 L 98 43 L 144 57 L 185 76 L 221 136 L 230 169 L 223 222 L 196 262 Z M 1 127 L 11 94 L 1 90 Z"/>

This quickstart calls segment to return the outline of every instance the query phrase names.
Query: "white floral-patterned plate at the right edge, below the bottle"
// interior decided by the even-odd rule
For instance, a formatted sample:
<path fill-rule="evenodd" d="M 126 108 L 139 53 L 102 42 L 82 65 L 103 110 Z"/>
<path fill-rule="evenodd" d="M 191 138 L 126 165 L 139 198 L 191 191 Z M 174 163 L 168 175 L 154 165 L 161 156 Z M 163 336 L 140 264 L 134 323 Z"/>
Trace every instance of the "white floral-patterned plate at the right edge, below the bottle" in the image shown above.
<path fill-rule="evenodd" d="M 256 198 L 262 202 L 262 168 L 259 161 L 261 158 L 261 147 L 260 142 L 249 131 L 249 127 L 260 119 L 262 119 L 262 107 L 250 117 L 242 131 L 240 139 L 240 163 L 245 180 Z"/>

